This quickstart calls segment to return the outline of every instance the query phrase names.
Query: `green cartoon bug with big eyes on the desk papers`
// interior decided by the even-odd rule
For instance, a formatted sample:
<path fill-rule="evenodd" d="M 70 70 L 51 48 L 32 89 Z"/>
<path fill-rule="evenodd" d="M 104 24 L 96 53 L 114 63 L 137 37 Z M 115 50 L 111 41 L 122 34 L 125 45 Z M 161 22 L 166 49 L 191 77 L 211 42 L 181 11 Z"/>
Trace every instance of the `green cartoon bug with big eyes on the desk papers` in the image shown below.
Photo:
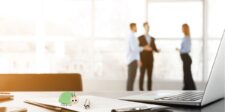
<path fill-rule="evenodd" d="M 59 96 L 59 102 L 63 106 L 71 106 L 72 104 L 76 104 L 78 102 L 78 98 L 74 92 L 64 92 Z"/>

